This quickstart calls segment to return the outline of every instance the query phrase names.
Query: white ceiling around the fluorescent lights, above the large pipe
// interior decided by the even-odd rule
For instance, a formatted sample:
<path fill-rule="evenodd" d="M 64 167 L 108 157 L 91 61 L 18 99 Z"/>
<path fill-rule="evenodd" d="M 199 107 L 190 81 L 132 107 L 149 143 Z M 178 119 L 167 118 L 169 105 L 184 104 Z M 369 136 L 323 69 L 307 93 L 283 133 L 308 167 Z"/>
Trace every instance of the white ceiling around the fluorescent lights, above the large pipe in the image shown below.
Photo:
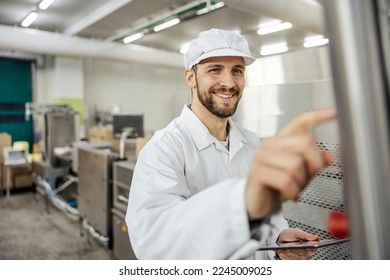
<path fill-rule="evenodd" d="M 50 31 L 61 35 L 71 35 L 88 39 L 122 43 L 121 39 L 130 32 L 145 30 L 153 22 L 167 18 L 179 9 L 199 4 L 207 5 L 209 1 L 195 0 L 56 0 L 47 10 L 39 10 L 41 0 L 1 0 L 0 25 L 20 27 L 22 20 L 31 11 L 38 11 L 38 18 L 30 29 Z M 249 2 L 254 2 L 248 0 Z M 257 0 L 269 5 L 283 4 L 282 0 Z M 284 0 L 292 3 L 291 0 Z M 315 0 L 294 0 L 297 4 L 310 4 Z M 214 1 L 214 3 L 220 1 Z M 232 5 L 237 3 L 237 5 Z M 143 38 L 132 42 L 150 48 L 178 52 L 182 44 L 189 42 L 197 34 L 210 28 L 222 28 L 240 31 L 249 41 L 252 55 L 259 57 L 259 49 L 264 45 L 287 42 L 290 50 L 302 48 L 306 36 L 315 34 L 310 24 L 259 36 L 256 31 L 260 23 L 277 18 L 277 9 L 270 15 L 268 9 L 264 13 L 248 11 L 241 6 L 245 0 L 225 1 L 225 6 L 201 16 L 189 12 L 184 14 L 183 21 L 160 32 L 147 33 Z M 273 3 L 273 4 L 272 4 Z M 187 6 L 186 6 L 187 5 Z M 319 4 L 318 4 L 319 5 Z M 275 7 L 274 7 L 275 8 Z M 283 7 L 279 7 L 282 11 Z M 286 8 L 288 8 L 286 6 Z M 268 11 L 268 13 L 267 13 Z M 291 9 L 291 12 L 292 9 Z M 281 14 L 282 15 L 282 14 Z M 309 17 L 302 13 L 296 18 Z M 283 19 L 282 17 L 280 17 Z M 1 46 L 0 46 L 1 48 Z"/>

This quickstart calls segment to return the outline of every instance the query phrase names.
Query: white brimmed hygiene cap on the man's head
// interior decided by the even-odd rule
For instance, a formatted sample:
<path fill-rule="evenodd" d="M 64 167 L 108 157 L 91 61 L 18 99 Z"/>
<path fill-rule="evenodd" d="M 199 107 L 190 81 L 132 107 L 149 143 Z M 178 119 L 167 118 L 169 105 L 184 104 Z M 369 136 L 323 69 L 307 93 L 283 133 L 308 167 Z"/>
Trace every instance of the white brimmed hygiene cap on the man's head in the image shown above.
<path fill-rule="evenodd" d="M 192 68 L 203 59 L 215 56 L 241 56 L 245 65 L 255 61 L 251 56 L 247 40 L 233 31 L 210 29 L 193 39 L 184 55 L 186 68 Z"/>

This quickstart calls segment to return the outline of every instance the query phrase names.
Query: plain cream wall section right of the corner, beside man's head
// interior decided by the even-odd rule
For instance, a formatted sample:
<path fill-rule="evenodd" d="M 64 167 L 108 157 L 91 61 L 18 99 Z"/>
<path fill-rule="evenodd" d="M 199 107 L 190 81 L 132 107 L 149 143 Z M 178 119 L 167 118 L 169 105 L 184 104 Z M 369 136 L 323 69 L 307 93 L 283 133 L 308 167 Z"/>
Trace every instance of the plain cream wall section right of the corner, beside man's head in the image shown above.
<path fill-rule="evenodd" d="M 84 64 L 85 104 L 94 110 L 144 114 L 146 132 L 167 125 L 189 101 L 183 70 L 88 59 Z"/>

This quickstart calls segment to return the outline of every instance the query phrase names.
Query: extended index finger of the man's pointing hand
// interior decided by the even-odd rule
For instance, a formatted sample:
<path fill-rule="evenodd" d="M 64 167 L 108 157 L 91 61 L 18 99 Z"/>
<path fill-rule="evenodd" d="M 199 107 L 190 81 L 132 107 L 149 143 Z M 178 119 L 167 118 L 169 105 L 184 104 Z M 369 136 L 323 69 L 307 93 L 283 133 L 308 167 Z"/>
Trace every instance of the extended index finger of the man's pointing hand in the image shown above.
<path fill-rule="evenodd" d="M 336 115 L 335 108 L 321 108 L 305 112 L 293 118 L 279 132 L 279 135 L 306 132 L 320 124 L 336 119 Z"/>

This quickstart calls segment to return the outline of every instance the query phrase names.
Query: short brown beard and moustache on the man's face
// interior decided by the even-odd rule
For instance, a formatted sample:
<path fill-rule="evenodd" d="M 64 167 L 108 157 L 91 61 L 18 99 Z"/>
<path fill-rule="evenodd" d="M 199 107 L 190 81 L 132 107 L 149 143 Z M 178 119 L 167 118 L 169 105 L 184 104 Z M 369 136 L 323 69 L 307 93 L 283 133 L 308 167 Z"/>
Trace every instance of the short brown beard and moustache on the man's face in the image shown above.
<path fill-rule="evenodd" d="M 238 88 L 234 87 L 234 88 L 227 89 L 225 87 L 221 87 L 218 89 L 210 88 L 207 91 L 206 90 L 202 91 L 202 89 L 199 87 L 199 83 L 197 83 L 197 85 L 198 85 L 198 90 L 197 90 L 198 99 L 199 99 L 200 103 L 202 103 L 202 105 L 210 113 L 212 113 L 214 116 L 216 116 L 218 118 L 223 118 L 223 119 L 234 115 L 234 113 L 237 110 L 238 103 L 240 101 L 240 91 Z M 231 106 L 230 104 L 218 105 L 218 102 L 216 102 L 213 99 L 214 94 L 215 93 L 226 94 L 227 92 L 229 94 L 234 94 L 234 95 L 238 96 L 239 98 L 233 104 L 233 106 Z"/>

